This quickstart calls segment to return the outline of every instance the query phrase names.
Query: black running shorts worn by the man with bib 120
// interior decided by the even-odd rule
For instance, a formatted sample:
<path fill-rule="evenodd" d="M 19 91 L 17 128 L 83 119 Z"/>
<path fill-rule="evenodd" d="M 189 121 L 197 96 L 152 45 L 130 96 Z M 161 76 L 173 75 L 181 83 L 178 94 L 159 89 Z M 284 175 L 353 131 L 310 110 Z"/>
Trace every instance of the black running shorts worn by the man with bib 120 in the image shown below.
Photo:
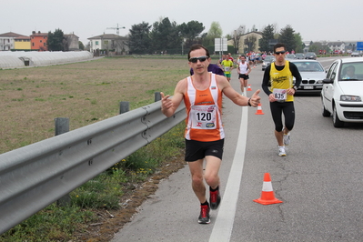
<path fill-rule="evenodd" d="M 222 159 L 223 146 L 225 145 L 225 139 L 217 141 L 201 142 L 197 140 L 186 139 L 186 158 L 187 162 L 197 161 L 203 159 L 206 156 L 216 156 Z"/>

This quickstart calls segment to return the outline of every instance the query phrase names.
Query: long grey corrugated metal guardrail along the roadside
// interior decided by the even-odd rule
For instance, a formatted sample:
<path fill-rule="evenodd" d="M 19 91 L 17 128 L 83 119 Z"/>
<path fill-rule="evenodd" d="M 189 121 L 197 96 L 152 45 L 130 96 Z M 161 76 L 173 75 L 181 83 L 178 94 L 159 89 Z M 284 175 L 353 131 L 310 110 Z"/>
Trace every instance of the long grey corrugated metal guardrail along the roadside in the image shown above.
<path fill-rule="evenodd" d="M 0 155 L 0 234 L 65 196 L 186 118 L 160 101 Z"/>

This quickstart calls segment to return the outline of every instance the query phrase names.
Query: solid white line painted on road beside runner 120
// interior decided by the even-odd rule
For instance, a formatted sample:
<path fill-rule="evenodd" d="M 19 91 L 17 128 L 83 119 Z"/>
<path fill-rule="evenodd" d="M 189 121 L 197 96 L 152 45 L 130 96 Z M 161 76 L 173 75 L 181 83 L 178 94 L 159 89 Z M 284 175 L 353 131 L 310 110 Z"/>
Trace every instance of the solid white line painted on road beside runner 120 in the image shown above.
<path fill-rule="evenodd" d="M 215 226 L 209 237 L 209 242 L 229 241 L 235 221 L 237 199 L 241 184 L 243 164 L 245 163 L 245 153 L 247 144 L 247 120 L 248 107 L 242 107 L 241 126 L 239 128 L 236 153 L 229 172 L 227 186 L 223 194 L 218 210 Z"/>

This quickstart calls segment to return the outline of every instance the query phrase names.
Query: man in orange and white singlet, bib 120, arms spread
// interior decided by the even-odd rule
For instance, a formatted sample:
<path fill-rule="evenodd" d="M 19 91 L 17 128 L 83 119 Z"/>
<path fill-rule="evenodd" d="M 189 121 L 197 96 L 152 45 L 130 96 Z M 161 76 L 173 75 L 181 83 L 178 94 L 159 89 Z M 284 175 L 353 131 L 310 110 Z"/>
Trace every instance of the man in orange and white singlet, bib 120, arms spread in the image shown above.
<path fill-rule="evenodd" d="M 187 57 L 194 75 L 177 83 L 173 97 L 161 93 L 161 111 L 165 116 L 173 116 L 183 100 L 187 107 L 186 161 L 193 190 L 200 202 L 198 223 L 208 224 L 209 209 L 217 209 L 221 200 L 218 171 L 225 138 L 221 119 L 222 95 L 238 106 L 258 106 L 260 97 L 259 90 L 250 98 L 241 96 L 230 86 L 226 76 L 207 72 L 211 59 L 203 45 L 192 45 Z M 209 186 L 209 203 L 204 181 Z"/>

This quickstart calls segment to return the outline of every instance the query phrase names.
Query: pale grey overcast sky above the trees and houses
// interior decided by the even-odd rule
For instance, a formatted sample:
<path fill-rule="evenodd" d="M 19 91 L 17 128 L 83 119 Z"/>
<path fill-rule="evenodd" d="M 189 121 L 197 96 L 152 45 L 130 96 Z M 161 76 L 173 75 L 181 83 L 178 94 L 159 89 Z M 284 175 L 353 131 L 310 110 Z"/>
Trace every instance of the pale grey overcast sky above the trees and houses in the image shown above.
<path fill-rule="evenodd" d="M 87 38 L 116 34 L 108 27 L 125 26 L 127 35 L 132 25 L 145 21 L 153 25 L 160 17 L 168 17 L 177 25 L 195 20 L 207 32 L 212 22 L 221 25 L 223 35 L 231 34 L 239 25 L 257 30 L 287 25 L 300 33 L 303 41 L 363 41 L 362 0 L 19 0 L 4 1 L 0 6 L 0 34 L 14 32 L 31 35 L 61 29 L 74 33 L 85 45 Z"/>

